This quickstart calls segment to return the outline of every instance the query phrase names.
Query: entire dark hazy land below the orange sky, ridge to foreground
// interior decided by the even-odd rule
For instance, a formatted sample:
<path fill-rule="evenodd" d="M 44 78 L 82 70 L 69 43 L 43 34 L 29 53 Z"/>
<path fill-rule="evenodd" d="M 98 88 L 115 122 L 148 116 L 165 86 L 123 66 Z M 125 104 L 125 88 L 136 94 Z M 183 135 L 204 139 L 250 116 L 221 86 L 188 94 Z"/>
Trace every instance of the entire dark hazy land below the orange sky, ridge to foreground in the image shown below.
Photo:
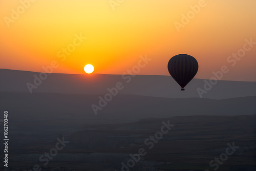
<path fill-rule="evenodd" d="M 218 81 L 200 98 L 202 79 L 180 91 L 167 76 L 136 75 L 125 83 L 121 75 L 51 74 L 30 93 L 26 84 L 37 74 L 0 70 L 0 108 L 9 113 L 14 168 L 44 165 L 40 156 L 65 138 L 69 143 L 43 170 L 119 171 L 140 148 L 146 155 L 124 170 L 212 170 L 209 162 L 225 153 L 228 143 L 239 148 L 219 170 L 255 170 L 256 82 Z M 102 106 L 108 88 L 118 82 L 124 88 Z M 97 114 L 92 105 L 101 106 Z M 153 146 L 145 143 L 168 120 L 172 129 Z"/>

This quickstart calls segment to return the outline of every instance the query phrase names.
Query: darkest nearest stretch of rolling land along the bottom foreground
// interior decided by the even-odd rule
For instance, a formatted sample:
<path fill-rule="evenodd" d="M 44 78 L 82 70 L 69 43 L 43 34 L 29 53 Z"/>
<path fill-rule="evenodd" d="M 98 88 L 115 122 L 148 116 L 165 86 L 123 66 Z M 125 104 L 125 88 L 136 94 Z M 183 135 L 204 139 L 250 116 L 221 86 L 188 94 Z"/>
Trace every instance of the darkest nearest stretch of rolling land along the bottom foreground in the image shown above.
<path fill-rule="evenodd" d="M 163 122 L 168 121 L 171 125 L 168 133 L 156 143 L 146 140 L 156 137 Z M 238 147 L 223 165 L 219 165 L 220 170 L 243 168 L 249 171 L 256 168 L 255 121 L 256 115 L 176 116 L 122 124 L 87 124 L 80 131 L 65 136 L 69 143 L 48 167 L 58 167 L 62 163 L 76 170 L 121 170 L 121 163 L 129 161 L 130 154 L 138 154 L 139 149 L 144 148 L 146 155 L 133 170 L 203 171 L 213 169 L 209 162 L 226 153 L 228 143 L 233 143 Z M 39 136 L 31 143 L 15 145 L 10 163 L 38 164 L 40 155 L 55 143 L 54 139 Z"/>

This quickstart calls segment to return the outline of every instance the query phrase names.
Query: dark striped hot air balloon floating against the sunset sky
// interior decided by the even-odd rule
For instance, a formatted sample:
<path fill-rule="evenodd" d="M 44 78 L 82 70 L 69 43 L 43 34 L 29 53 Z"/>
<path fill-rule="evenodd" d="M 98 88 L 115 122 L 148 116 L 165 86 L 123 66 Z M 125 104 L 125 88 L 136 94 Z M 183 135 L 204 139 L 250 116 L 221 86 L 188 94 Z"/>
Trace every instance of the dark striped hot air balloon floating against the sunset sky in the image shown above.
<path fill-rule="evenodd" d="M 184 91 L 184 87 L 197 74 L 198 62 L 193 56 L 179 54 L 170 58 L 168 62 L 168 71 Z"/>

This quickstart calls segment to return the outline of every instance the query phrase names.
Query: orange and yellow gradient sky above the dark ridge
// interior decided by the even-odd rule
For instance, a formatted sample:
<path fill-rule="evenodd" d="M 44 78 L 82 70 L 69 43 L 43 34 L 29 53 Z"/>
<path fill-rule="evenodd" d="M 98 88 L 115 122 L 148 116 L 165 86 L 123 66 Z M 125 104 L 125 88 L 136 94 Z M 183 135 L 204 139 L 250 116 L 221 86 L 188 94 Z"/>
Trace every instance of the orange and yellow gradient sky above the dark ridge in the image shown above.
<path fill-rule="evenodd" d="M 233 67 L 227 62 L 245 39 L 256 41 L 256 1 L 205 0 L 178 31 L 174 23 L 199 2 L 124 0 L 113 10 L 109 0 L 37 0 L 23 12 L 20 1 L 0 0 L 0 68 L 42 72 L 56 60 L 54 73 L 83 74 L 91 63 L 95 73 L 123 74 L 146 54 L 152 61 L 139 74 L 168 75 L 168 60 L 185 53 L 199 62 L 196 78 L 209 79 L 227 66 L 223 80 L 256 81 L 256 45 Z M 17 8 L 8 27 L 6 17 Z M 87 39 L 61 61 L 57 53 L 80 33 Z"/>

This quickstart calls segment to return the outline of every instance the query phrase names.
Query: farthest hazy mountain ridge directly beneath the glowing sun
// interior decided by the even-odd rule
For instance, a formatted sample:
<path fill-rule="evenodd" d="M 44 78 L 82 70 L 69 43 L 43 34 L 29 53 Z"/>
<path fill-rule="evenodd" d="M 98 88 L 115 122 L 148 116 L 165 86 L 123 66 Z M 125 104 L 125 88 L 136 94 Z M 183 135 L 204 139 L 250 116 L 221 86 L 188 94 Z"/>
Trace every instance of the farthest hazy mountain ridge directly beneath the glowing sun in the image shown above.
<path fill-rule="evenodd" d="M 0 69 L 0 92 L 29 93 L 27 83 L 34 84 L 34 75 L 40 73 Z M 42 75 L 41 75 L 42 76 Z M 130 81 L 130 82 L 129 82 Z M 105 74 L 47 74 L 45 80 L 37 81 L 39 86 L 32 89 L 33 93 L 63 93 L 104 95 L 108 88 L 116 87 L 121 82 L 123 89 L 118 94 L 142 95 L 167 98 L 200 97 L 197 88 L 204 89 L 204 79 L 193 79 L 180 91 L 180 87 L 170 76 L 161 75 L 105 75 Z M 209 80 L 206 80 L 209 82 Z M 226 99 L 256 96 L 256 82 L 222 81 L 202 95 L 203 98 Z"/>

